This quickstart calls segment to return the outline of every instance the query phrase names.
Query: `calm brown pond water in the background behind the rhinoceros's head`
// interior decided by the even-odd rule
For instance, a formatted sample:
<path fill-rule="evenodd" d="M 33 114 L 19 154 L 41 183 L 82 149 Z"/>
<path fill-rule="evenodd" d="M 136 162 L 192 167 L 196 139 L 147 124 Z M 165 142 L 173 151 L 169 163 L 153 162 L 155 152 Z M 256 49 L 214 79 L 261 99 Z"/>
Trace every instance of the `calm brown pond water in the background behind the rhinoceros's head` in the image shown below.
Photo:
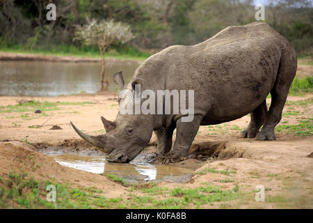
<path fill-rule="evenodd" d="M 108 61 L 109 91 L 116 91 L 112 75 L 122 70 L 126 82 L 138 68 L 138 61 Z M 57 96 L 95 93 L 100 89 L 101 63 L 46 61 L 0 61 L 0 95 Z"/>

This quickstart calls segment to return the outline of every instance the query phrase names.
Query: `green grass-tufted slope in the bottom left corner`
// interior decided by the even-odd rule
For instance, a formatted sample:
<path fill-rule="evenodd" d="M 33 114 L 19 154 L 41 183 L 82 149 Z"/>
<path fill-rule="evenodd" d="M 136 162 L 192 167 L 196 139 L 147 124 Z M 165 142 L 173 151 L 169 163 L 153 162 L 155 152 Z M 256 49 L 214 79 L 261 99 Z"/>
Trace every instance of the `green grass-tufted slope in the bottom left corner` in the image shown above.
<path fill-rule="evenodd" d="M 108 199 L 102 190 L 38 181 L 24 171 L 10 171 L 0 182 L 0 208 L 122 208 L 122 198 Z M 47 201 L 48 185 L 56 188 L 56 202 Z"/>

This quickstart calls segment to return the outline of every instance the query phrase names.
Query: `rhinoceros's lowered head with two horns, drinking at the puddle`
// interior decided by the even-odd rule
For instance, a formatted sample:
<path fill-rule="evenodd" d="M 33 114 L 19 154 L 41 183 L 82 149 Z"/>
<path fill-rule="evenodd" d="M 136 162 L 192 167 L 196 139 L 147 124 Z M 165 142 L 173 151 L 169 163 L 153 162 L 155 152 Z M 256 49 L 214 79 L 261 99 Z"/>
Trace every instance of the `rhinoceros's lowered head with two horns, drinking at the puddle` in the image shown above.
<path fill-rule="evenodd" d="M 122 72 L 113 75 L 115 84 L 121 92 L 124 89 Z M 134 86 L 131 84 L 131 86 Z M 120 99 L 119 99 L 120 100 Z M 120 102 L 119 102 L 120 103 Z M 121 103 L 120 103 L 120 106 Z M 115 121 L 101 117 L 106 134 L 97 136 L 85 134 L 71 122 L 79 136 L 106 154 L 106 160 L 110 162 L 130 162 L 150 141 L 152 136 L 152 116 L 138 114 L 120 114 Z"/>

